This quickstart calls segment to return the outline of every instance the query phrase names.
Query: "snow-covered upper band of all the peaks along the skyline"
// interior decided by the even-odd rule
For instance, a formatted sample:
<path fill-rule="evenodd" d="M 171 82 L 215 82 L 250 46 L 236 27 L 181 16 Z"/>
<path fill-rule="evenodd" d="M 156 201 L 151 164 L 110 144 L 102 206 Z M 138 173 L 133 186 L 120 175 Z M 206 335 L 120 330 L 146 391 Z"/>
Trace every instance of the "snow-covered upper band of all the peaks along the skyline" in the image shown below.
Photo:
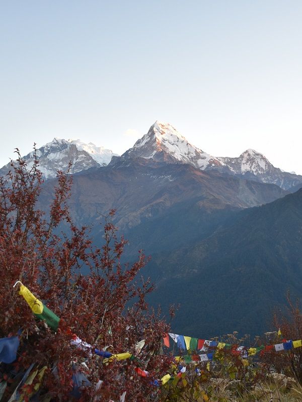
<path fill-rule="evenodd" d="M 58 169 L 66 170 L 69 161 L 72 162 L 71 173 L 78 173 L 92 167 L 112 165 L 120 159 L 113 151 L 93 143 L 59 138 L 39 148 L 37 156 L 45 178 L 55 177 Z M 217 170 L 225 175 L 276 184 L 285 190 L 302 186 L 301 175 L 274 167 L 264 155 L 253 149 L 247 149 L 237 158 L 214 157 L 190 144 L 171 124 L 159 121 L 121 156 L 122 159 L 135 157 L 165 163 L 186 163 L 200 170 Z M 24 156 L 24 159 L 30 165 L 33 152 Z M 7 164 L 0 169 L 0 174 L 5 174 L 9 168 L 10 164 Z"/>

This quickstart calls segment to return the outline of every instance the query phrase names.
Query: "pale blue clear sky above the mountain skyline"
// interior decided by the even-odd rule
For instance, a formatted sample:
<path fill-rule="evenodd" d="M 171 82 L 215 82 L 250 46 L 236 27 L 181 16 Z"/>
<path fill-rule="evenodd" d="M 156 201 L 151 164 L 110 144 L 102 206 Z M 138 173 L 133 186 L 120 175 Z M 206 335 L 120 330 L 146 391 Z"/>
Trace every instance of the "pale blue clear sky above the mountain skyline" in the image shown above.
<path fill-rule="evenodd" d="M 122 153 L 156 121 L 302 174 L 301 0 L 0 0 L 0 165 L 54 137 Z"/>

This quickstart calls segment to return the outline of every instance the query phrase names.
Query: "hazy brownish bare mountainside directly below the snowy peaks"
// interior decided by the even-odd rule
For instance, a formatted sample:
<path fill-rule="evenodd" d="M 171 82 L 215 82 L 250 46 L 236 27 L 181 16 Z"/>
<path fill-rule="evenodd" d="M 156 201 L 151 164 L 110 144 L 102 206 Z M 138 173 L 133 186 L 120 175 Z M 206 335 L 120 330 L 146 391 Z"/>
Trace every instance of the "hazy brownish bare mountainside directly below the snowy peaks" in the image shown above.
<path fill-rule="evenodd" d="M 45 183 L 46 198 L 52 185 L 52 181 Z M 189 224 L 189 216 L 191 221 L 198 222 L 205 215 L 210 221 L 223 211 L 266 204 L 285 194 L 272 184 L 223 177 L 187 164 L 121 159 L 114 166 L 73 175 L 70 207 L 75 222 L 83 225 L 95 224 L 102 214 L 114 208 L 116 225 L 128 232 L 155 219 L 160 220 L 160 227 L 161 221 L 166 221 L 165 226 L 176 226 L 178 219 L 183 219 L 184 224 L 188 220 Z M 181 237 L 181 232 L 178 235 Z"/>

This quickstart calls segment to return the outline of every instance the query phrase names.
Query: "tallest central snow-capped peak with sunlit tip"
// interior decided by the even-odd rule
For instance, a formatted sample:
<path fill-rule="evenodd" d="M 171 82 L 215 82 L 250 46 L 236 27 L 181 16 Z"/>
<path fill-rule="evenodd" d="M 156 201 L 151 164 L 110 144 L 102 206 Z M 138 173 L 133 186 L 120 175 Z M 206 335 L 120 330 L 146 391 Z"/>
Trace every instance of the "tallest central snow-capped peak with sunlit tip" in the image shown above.
<path fill-rule="evenodd" d="M 213 156 L 190 144 L 171 124 L 156 121 L 147 134 L 136 141 L 124 157 L 138 156 L 157 161 L 189 163 L 200 169 L 221 163 Z"/>

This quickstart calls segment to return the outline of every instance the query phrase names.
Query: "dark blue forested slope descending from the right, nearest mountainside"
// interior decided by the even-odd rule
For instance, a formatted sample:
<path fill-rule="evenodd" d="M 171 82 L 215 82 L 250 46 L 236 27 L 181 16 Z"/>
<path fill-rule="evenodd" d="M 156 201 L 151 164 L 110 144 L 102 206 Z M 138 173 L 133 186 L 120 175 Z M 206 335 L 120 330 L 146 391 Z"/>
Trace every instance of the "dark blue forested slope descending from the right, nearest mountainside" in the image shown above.
<path fill-rule="evenodd" d="M 155 255 L 150 301 L 181 303 L 174 330 L 211 337 L 270 330 L 285 293 L 301 296 L 302 189 L 233 221 L 191 247 Z"/>

